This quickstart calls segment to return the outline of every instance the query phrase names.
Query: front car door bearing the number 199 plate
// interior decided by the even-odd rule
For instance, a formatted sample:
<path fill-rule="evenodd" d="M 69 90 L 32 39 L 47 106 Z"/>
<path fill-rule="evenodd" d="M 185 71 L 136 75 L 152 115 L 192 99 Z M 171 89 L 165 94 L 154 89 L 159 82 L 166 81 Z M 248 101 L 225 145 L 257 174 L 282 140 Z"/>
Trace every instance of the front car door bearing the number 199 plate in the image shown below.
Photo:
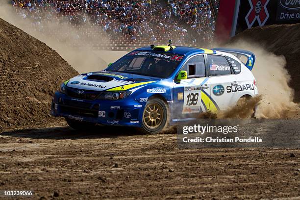
<path fill-rule="evenodd" d="M 187 72 L 187 79 L 174 82 L 174 117 L 192 118 L 205 110 L 201 103 L 201 84 L 205 80 L 204 54 L 191 56 L 181 71 Z"/>

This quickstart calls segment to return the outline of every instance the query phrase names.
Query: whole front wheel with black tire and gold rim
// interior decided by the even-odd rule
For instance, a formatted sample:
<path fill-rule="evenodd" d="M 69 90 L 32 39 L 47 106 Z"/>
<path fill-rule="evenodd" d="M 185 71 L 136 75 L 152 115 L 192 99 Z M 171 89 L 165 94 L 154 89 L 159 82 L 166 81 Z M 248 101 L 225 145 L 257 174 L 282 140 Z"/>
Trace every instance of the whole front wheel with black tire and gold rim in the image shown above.
<path fill-rule="evenodd" d="M 168 124 L 168 108 L 160 99 L 147 101 L 143 111 L 142 132 L 156 134 L 161 132 Z"/>

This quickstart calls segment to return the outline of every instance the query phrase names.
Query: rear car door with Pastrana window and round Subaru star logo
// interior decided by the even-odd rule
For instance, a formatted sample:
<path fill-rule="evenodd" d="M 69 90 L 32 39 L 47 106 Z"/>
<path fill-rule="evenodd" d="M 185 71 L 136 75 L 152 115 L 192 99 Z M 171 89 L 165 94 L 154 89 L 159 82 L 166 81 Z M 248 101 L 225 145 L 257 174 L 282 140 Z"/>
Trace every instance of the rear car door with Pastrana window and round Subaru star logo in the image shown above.
<path fill-rule="evenodd" d="M 228 93 L 228 86 L 238 85 L 236 75 L 223 55 L 207 54 L 209 78 L 203 84 L 202 100 L 207 110 L 225 110 L 232 105 L 234 93 Z M 204 90 L 206 88 L 206 90 Z M 235 101 L 234 101 L 235 102 Z"/>

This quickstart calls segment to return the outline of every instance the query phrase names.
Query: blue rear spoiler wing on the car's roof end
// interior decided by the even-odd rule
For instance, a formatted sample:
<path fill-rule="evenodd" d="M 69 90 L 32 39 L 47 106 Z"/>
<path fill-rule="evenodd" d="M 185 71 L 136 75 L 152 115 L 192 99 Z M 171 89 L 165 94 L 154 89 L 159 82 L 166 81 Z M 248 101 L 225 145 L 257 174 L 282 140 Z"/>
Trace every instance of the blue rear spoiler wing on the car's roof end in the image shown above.
<path fill-rule="evenodd" d="M 229 49 L 229 48 L 214 48 L 212 50 L 223 51 L 226 53 L 230 53 L 236 56 L 249 70 L 252 70 L 254 62 L 255 62 L 255 55 L 251 51 L 248 50 L 239 50 L 239 49 Z"/>

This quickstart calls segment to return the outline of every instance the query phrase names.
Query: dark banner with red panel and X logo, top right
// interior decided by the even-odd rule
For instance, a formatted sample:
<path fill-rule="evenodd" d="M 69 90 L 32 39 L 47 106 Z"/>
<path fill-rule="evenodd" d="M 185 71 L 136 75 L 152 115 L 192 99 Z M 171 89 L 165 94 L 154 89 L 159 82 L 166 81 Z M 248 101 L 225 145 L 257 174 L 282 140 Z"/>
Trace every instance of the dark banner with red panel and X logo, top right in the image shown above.
<path fill-rule="evenodd" d="M 226 40 L 255 26 L 300 23 L 300 0 L 220 0 L 215 31 Z"/>

